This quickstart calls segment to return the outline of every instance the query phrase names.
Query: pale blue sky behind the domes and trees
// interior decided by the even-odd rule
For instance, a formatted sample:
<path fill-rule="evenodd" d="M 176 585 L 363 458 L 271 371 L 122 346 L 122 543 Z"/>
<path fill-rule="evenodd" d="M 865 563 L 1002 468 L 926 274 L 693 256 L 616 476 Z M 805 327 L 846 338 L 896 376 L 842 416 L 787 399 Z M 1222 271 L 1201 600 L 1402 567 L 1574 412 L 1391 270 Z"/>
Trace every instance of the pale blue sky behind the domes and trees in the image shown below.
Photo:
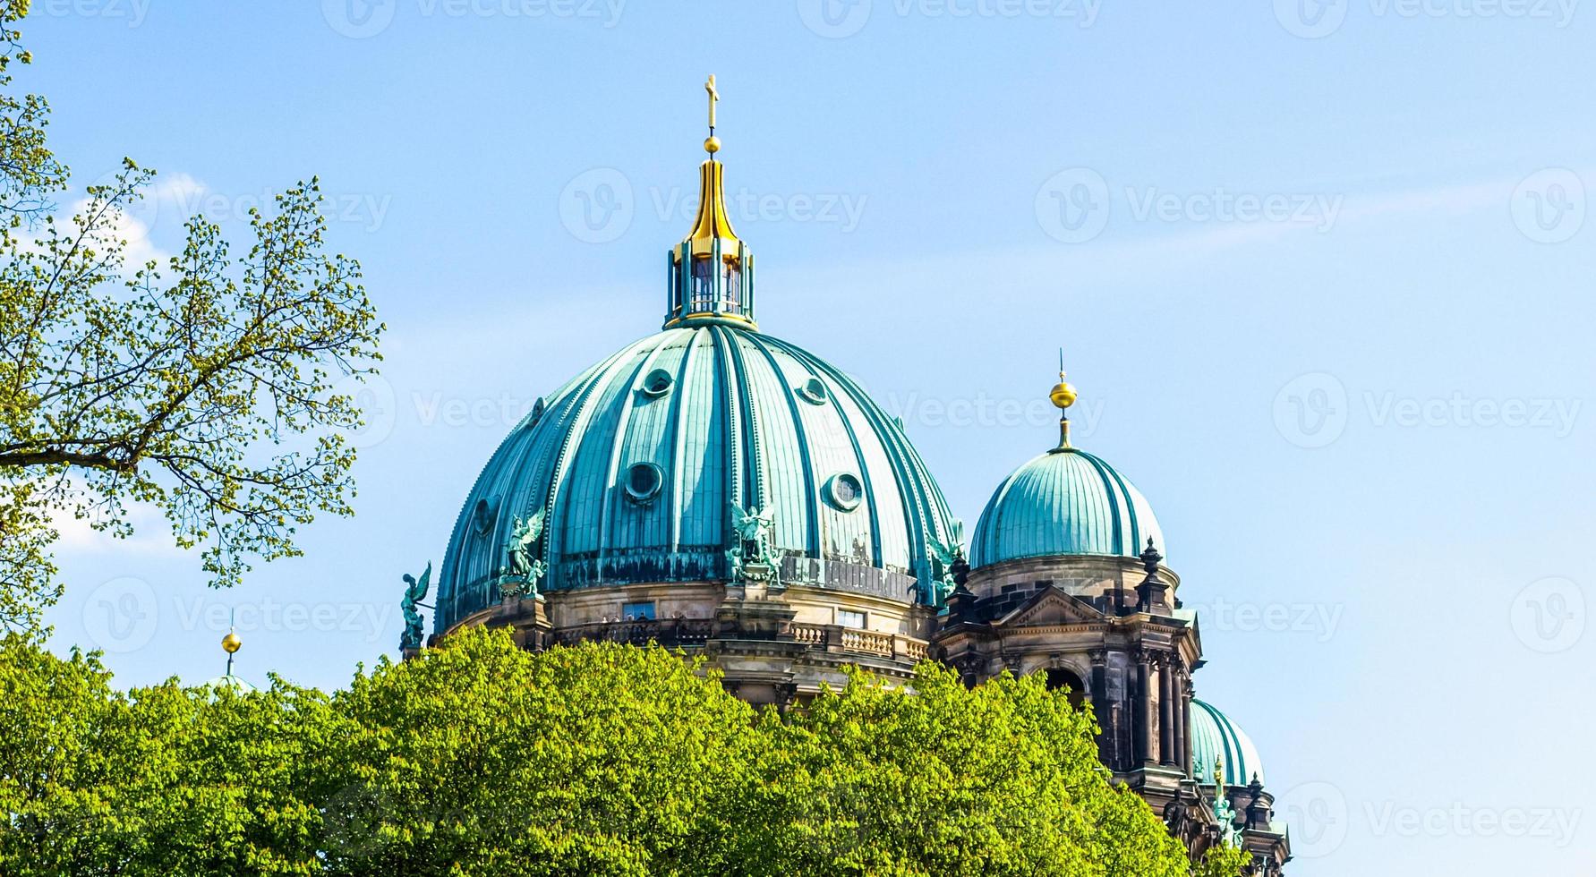
<path fill-rule="evenodd" d="M 1596 858 L 1596 11 L 827 2 L 37 0 L 19 85 L 75 183 L 161 171 L 136 246 L 319 174 L 389 325 L 358 517 L 222 593 L 158 521 L 70 531 L 56 646 L 198 681 L 236 611 L 257 681 L 393 654 L 509 426 L 658 327 L 713 72 L 763 328 L 900 415 L 970 525 L 1053 440 L 1066 348 L 1291 874 Z"/>

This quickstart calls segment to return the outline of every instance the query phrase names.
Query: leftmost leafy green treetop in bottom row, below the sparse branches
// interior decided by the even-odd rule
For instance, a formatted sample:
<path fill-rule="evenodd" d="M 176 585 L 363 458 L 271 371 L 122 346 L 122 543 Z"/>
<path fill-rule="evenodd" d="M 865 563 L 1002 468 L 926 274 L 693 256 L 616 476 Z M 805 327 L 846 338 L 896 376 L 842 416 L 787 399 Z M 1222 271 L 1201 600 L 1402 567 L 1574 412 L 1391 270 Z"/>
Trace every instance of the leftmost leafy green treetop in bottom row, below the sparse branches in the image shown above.
<path fill-rule="evenodd" d="M 118 692 L 94 655 L 11 635 L 0 721 L 3 874 L 322 874 L 303 788 L 340 726 L 318 692 Z"/>

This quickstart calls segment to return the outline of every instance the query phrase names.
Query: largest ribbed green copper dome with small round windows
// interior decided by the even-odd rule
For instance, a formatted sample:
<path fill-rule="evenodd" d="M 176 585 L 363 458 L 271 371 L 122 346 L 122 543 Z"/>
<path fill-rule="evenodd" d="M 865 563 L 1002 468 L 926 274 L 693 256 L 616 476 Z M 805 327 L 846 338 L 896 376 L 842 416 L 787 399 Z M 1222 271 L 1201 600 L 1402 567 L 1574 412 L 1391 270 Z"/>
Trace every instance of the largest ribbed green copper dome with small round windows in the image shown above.
<path fill-rule="evenodd" d="M 731 572 L 733 504 L 774 509 L 784 584 L 935 600 L 927 541 L 953 541 L 951 515 L 903 427 L 793 344 L 686 322 L 583 372 L 509 434 L 450 537 L 439 630 L 501 600 L 520 521 L 541 525 L 519 558 L 539 592 L 705 582 Z"/>

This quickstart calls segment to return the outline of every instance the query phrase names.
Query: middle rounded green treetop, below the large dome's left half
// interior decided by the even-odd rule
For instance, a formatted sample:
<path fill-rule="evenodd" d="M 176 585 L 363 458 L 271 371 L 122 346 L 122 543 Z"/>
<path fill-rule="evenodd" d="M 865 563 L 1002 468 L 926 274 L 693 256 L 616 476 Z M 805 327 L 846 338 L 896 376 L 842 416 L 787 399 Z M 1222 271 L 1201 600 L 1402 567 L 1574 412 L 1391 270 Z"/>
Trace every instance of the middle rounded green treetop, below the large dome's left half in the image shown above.
<path fill-rule="evenodd" d="M 335 874 L 720 874 L 753 710 L 664 649 L 469 631 L 337 698 Z"/>

